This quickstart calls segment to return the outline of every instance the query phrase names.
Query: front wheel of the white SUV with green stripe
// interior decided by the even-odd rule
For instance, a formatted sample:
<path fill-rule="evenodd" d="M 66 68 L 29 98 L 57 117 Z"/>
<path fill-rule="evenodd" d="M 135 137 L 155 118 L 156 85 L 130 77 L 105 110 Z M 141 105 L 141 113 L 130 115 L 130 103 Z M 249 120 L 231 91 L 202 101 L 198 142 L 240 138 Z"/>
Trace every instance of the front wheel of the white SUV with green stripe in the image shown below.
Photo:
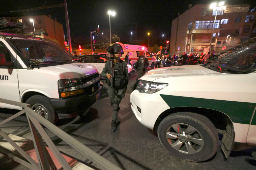
<path fill-rule="evenodd" d="M 157 134 L 165 149 L 187 161 L 208 160 L 218 149 L 216 127 L 207 117 L 196 113 L 179 112 L 165 117 Z"/>

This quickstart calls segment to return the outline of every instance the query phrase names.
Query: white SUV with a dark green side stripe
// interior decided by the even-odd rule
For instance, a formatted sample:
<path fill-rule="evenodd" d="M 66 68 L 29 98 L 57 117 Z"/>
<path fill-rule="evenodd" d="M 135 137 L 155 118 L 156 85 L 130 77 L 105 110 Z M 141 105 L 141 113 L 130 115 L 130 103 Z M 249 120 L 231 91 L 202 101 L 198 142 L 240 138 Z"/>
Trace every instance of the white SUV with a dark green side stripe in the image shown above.
<path fill-rule="evenodd" d="M 131 109 L 170 153 L 204 161 L 218 149 L 256 146 L 256 38 L 204 65 L 153 69 L 138 80 Z M 151 103 L 151 104 L 150 104 Z"/>

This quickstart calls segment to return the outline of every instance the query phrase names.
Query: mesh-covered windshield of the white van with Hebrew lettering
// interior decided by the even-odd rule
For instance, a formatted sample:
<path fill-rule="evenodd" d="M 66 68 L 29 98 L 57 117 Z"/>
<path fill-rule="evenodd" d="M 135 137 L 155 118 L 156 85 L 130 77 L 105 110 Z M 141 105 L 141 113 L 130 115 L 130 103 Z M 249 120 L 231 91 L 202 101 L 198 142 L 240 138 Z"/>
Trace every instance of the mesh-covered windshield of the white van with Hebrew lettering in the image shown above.
<path fill-rule="evenodd" d="M 63 64 L 75 59 L 72 54 L 52 40 L 26 36 L 6 36 L 5 38 L 28 65 Z"/>

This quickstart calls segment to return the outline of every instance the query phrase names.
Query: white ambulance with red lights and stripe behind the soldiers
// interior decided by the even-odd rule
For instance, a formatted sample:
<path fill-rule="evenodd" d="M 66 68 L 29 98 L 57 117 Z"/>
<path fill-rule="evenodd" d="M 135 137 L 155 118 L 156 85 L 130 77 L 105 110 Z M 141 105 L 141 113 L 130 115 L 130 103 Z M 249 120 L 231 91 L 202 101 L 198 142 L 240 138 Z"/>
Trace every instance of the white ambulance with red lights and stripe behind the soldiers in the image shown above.
<path fill-rule="evenodd" d="M 123 47 L 124 54 L 121 56 L 122 60 L 125 60 L 125 56 L 127 55 L 127 53 L 130 53 L 130 56 L 129 56 L 130 63 L 131 65 L 133 65 L 138 59 L 138 52 L 142 51 L 145 58 L 147 58 L 149 61 L 149 65 L 146 67 L 150 67 L 151 69 L 155 68 L 156 58 L 150 54 L 150 52 L 145 46 L 123 44 L 120 42 L 116 42 L 116 43 L 120 44 Z M 111 45 L 113 44 L 110 44 L 110 46 Z M 107 56 L 110 57 L 110 54 L 108 53 Z"/>

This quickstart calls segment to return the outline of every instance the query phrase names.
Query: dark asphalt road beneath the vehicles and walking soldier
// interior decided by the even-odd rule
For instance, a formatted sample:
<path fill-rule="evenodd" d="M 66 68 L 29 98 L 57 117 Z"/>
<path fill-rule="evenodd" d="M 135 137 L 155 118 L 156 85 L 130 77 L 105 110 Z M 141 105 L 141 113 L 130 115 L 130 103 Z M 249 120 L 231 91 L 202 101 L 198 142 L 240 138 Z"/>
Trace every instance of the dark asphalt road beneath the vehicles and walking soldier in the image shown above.
<path fill-rule="evenodd" d="M 256 168 L 256 159 L 251 156 L 251 152 L 256 151 L 255 149 L 232 152 L 230 157 L 225 160 L 219 148 L 217 154 L 211 160 L 200 163 L 184 161 L 171 155 L 160 144 L 157 134 L 151 133 L 150 129 L 140 124 L 131 111 L 130 94 L 136 76 L 136 72 L 129 76 L 126 96 L 120 104 L 121 109 L 116 132 L 110 132 L 112 108 L 106 93 L 106 84 L 104 84 L 101 98 L 96 101 L 86 116 L 79 120 L 77 118 L 63 119 L 56 125 L 122 169 Z M 0 109 L 0 121 L 14 113 L 17 113 L 17 111 Z M 5 132 L 32 139 L 25 116 L 20 116 L 0 127 Z M 46 130 L 46 132 L 60 151 L 92 167 L 96 166 L 49 130 Z"/>

